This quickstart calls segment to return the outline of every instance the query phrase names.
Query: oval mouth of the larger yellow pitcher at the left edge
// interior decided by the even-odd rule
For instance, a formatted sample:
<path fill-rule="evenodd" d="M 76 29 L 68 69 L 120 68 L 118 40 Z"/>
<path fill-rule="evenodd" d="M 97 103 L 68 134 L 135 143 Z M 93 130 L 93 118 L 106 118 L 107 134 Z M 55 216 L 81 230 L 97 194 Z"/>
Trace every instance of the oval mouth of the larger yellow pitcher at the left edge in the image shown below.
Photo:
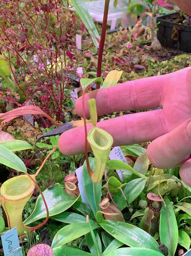
<path fill-rule="evenodd" d="M 33 193 L 35 184 L 27 175 L 6 180 L 1 186 L 1 195 L 8 200 L 18 200 Z"/>

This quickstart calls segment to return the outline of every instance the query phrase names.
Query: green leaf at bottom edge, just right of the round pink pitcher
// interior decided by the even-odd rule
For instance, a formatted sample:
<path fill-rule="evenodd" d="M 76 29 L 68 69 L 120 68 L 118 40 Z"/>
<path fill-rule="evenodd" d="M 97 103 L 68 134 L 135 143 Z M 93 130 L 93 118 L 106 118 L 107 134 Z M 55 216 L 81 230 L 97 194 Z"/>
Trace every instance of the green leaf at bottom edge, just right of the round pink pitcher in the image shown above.
<path fill-rule="evenodd" d="M 54 256 L 95 256 L 92 253 L 86 253 L 85 251 L 68 245 L 53 248 L 53 253 Z"/>

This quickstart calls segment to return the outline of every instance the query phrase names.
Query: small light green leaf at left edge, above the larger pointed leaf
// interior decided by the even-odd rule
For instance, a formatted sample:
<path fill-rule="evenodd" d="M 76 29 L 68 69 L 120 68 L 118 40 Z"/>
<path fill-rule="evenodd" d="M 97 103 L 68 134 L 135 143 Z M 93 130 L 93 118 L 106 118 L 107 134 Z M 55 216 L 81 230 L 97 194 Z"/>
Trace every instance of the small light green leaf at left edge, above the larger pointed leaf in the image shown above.
<path fill-rule="evenodd" d="M 0 145 L 6 147 L 6 149 L 13 151 L 33 149 L 33 147 L 24 140 L 5 140 L 0 142 Z"/>

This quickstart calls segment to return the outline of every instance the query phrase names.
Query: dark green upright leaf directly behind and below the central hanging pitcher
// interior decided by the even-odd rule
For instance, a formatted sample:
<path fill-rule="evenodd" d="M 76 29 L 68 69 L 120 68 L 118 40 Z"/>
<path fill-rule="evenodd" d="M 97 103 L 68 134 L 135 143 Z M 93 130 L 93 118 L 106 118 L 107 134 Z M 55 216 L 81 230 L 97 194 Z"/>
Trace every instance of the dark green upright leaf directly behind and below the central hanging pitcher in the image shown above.
<path fill-rule="evenodd" d="M 91 170 L 94 171 L 95 158 L 89 157 L 89 165 L 91 167 Z M 98 184 L 92 182 L 89 176 L 89 173 L 87 171 L 86 162 L 84 162 L 84 165 L 83 165 L 83 186 L 84 186 L 84 191 L 86 194 L 87 201 L 91 206 L 91 209 L 94 215 L 96 215 L 96 211 L 101 210 L 99 203 L 101 201 L 102 181 Z"/>

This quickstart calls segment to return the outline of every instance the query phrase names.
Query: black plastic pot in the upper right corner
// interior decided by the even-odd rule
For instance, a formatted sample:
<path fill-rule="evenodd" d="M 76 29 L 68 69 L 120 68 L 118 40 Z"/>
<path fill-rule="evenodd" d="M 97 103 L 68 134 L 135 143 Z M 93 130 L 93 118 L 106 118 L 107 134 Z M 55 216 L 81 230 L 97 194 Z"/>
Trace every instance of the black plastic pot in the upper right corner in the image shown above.
<path fill-rule="evenodd" d="M 191 26 L 165 20 L 165 18 L 174 18 L 177 15 L 178 13 L 172 13 L 157 18 L 157 38 L 164 46 L 191 53 Z"/>

